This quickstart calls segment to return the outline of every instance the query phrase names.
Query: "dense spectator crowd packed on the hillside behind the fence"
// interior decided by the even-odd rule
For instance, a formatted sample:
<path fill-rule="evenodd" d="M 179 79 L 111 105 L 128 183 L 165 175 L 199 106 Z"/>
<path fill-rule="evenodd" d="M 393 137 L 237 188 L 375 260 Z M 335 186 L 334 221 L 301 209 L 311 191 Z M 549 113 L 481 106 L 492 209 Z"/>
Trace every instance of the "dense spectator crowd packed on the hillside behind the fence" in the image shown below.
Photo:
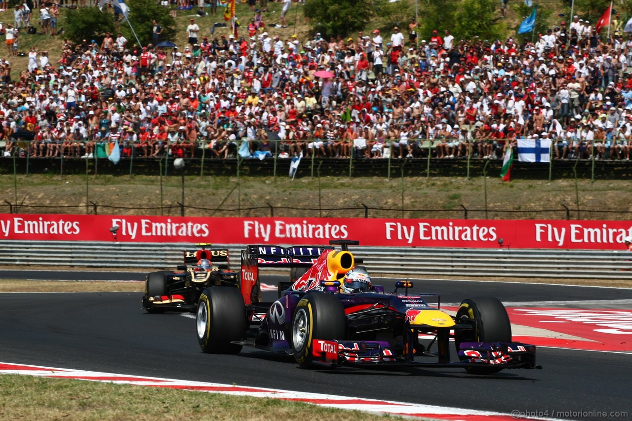
<path fill-rule="evenodd" d="M 255 9 L 238 35 L 192 18 L 188 45 L 161 48 L 154 21 L 148 46 L 106 34 L 66 41 L 59 58 L 32 48 L 15 80 L 3 60 L 0 140 L 4 156 L 93 157 L 119 141 L 122 156 L 148 158 L 204 147 L 224 159 L 500 159 L 518 138 L 549 138 L 554 158 L 629 159 L 624 23 L 616 16 L 607 38 L 574 16 L 533 43 L 439 28 L 422 39 L 414 20 L 387 34 L 299 39 L 279 37 Z M 12 49 L 9 35 L 12 25 Z"/>

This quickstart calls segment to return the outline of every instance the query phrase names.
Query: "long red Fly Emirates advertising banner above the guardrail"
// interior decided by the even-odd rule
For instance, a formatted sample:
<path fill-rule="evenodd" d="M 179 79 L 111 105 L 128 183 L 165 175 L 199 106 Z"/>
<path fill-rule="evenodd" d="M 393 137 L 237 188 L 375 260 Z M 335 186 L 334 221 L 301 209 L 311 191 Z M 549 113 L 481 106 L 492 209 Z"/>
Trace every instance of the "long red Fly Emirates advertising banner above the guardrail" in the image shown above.
<path fill-rule="evenodd" d="M 33 241 L 611 250 L 629 235 L 628 221 L 0 214 L 0 238 Z"/>

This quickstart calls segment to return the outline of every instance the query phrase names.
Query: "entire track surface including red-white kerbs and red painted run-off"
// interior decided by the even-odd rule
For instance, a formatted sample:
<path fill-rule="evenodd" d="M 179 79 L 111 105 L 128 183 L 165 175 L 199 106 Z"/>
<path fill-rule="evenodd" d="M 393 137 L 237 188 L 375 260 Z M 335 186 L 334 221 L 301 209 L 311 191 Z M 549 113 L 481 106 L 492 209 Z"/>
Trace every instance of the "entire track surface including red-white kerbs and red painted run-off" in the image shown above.
<path fill-rule="evenodd" d="M 244 348 L 202 353 L 192 314 L 145 314 L 142 293 L 46 293 L 46 280 L 142 281 L 140 272 L 0 271 L 31 293 L 0 293 L 0 372 L 248 394 L 437 419 L 629 419 L 632 289 L 413 279 L 441 308 L 496 296 L 513 338 L 538 346 L 542 370 L 487 376 L 462 369 L 299 369 L 293 357 Z M 264 276 L 274 300 L 283 276 Z M 374 279 L 385 289 L 395 279 Z M 140 288 L 139 288 L 140 289 Z M 454 356 L 454 352 L 453 352 Z"/>

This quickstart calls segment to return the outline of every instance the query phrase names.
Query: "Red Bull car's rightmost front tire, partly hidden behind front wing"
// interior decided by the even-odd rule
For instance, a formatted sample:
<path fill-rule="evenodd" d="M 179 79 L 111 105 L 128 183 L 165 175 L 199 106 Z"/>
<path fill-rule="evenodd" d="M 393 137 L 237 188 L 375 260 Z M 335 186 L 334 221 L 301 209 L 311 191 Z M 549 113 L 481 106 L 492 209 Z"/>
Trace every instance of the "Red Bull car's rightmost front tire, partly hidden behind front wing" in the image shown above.
<path fill-rule="evenodd" d="M 494 297 L 480 296 L 463 300 L 456 312 L 456 322 L 470 324 L 475 321 L 475 329 L 455 330 L 454 343 L 456 350 L 462 342 L 511 342 L 511 323 L 505 306 Z M 499 372 L 499 367 L 468 367 L 471 374 L 492 374 Z"/>

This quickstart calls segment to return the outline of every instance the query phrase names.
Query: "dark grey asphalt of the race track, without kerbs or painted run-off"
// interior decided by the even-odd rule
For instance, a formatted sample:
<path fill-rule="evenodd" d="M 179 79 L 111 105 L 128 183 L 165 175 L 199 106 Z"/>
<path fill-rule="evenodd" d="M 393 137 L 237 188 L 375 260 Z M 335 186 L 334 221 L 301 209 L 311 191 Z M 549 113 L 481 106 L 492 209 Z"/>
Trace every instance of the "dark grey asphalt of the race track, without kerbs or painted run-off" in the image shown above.
<path fill-rule="evenodd" d="M 144 274 L 0 271 L 0 278 L 33 279 L 37 291 L 37 279 L 138 280 Z M 392 281 L 384 285 L 389 290 Z M 432 280 L 416 281 L 413 291 L 440 292 L 449 303 L 494 295 L 523 303 L 597 300 L 604 305 L 593 308 L 609 308 L 609 301 L 632 300 L 632 289 L 544 284 Z M 264 300 L 275 297 L 276 291 L 264 293 Z M 291 357 L 247 348 L 239 355 L 206 355 L 195 338 L 195 319 L 145 314 L 140 301 L 140 293 L 0 293 L 0 361 L 503 413 L 632 413 L 631 353 L 538 348 L 543 370 L 483 377 L 459 369 L 301 370 Z"/>

